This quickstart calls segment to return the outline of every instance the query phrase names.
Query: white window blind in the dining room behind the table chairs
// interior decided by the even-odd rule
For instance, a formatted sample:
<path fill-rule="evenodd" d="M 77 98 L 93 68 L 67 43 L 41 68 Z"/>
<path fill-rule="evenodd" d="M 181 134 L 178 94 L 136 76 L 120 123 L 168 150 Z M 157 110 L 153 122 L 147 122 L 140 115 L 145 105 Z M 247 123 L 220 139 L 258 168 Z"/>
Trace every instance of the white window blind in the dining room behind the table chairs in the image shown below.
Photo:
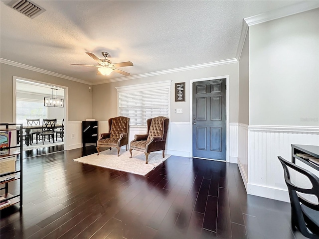
<path fill-rule="evenodd" d="M 42 119 L 47 118 L 47 109 L 43 100 L 31 100 L 16 98 L 16 123 L 26 125 L 26 119 Z"/>

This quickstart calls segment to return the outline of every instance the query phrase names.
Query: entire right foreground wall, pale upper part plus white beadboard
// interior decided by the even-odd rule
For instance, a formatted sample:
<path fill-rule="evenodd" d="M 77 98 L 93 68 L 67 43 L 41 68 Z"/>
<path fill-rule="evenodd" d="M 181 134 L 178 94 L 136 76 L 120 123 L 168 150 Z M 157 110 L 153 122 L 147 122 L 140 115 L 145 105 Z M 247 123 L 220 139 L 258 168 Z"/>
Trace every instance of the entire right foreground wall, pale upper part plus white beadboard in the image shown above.
<path fill-rule="evenodd" d="M 319 145 L 319 8 L 249 29 L 248 193 L 289 201 L 278 155 Z"/>

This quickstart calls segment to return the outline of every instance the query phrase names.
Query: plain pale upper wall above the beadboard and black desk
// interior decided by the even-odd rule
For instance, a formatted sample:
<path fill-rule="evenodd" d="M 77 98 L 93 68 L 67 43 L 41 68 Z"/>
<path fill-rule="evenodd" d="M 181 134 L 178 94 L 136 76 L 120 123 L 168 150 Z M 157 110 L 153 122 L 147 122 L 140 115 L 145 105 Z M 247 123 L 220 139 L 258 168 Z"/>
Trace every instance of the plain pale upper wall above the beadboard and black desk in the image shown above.
<path fill-rule="evenodd" d="M 249 123 L 319 126 L 319 8 L 249 30 Z"/>

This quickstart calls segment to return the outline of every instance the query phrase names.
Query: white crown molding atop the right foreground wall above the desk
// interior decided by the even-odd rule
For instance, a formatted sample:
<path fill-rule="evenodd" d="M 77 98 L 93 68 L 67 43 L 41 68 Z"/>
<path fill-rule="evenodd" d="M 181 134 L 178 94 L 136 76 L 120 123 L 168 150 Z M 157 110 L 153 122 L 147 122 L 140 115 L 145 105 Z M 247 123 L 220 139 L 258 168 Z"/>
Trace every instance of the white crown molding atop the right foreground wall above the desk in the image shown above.
<path fill-rule="evenodd" d="M 318 7 L 319 1 L 301 1 L 293 5 L 284 6 L 255 16 L 246 17 L 244 18 L 244 20 L 246 21 L 248 26 L 253 26 L 266 21 L 271 21 L 285 16 L 290 16 L 304 11 L 309 11 Z"/>

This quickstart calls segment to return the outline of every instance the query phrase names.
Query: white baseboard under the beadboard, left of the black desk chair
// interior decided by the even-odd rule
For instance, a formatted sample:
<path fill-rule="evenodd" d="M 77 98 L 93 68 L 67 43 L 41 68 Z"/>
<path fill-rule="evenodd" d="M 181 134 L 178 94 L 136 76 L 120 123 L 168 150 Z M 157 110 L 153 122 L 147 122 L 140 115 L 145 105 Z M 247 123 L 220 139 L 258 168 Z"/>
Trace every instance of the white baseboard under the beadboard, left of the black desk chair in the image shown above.
<path fill-rule="evenodd" d="M 288 191 L 280 188 L 271 188 L 248 183 L 247 193 L 263 198 L 270 198 L 288 203 L 290 202 Z"/>

